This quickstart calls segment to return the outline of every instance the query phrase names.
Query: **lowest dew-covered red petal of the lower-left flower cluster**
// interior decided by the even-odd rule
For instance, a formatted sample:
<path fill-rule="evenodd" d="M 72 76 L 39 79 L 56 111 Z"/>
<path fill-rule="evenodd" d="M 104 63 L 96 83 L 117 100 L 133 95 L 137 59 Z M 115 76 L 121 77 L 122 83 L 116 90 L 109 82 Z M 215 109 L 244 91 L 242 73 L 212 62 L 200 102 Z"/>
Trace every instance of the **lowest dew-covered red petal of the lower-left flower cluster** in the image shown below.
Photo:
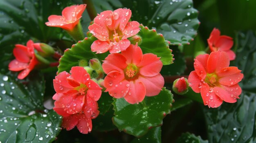
<path fill-rule="evenodd" d="M 82 134 L 88 134 L 92 130 L 92 119 L 87 118 L 84 114 L 79 114 L 79 121 L 76 125 L 79 132 Z"/>

